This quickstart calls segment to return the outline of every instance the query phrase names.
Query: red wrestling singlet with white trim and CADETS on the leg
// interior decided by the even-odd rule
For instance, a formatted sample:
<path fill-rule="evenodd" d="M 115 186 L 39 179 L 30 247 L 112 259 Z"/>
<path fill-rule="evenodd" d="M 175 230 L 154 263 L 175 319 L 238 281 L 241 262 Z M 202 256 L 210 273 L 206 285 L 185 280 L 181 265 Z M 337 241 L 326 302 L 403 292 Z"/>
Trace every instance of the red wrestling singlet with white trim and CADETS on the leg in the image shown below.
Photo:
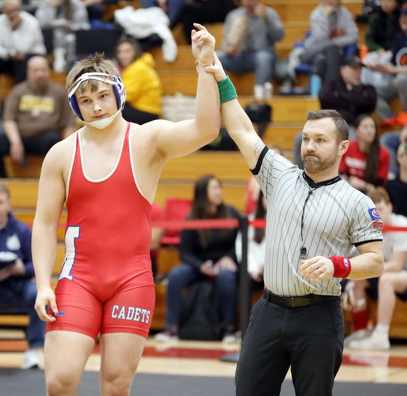
<path fill-rule="evenodd" d="M 130 125 L 117 163 L 98 180 L 86 175 L 76 133 L 67 181 L 66 256 L 55 289 L 59 313 L 47 331 L 148 335 L 155 299 L 151 204 L 137 185 Z"/>

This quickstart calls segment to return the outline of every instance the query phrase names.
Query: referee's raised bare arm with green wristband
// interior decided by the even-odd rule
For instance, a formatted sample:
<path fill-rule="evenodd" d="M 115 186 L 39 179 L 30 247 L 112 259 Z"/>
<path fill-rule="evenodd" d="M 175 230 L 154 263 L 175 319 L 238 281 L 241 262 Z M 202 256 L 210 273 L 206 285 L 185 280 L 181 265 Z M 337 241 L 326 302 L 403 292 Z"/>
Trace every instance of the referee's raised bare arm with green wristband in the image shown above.
<path fill-rule="evenodd" d="M 214 65 L 207 66 L 205 70 L 214 73 L 218 81 L 221 113 L 227 132 L 238 145 L 250 169 L 253 169 L 265 144 L 257 135 L 253 124 L 237 100 L 235 87 L 226 76 L 216 53 L 214 53 Z"/>

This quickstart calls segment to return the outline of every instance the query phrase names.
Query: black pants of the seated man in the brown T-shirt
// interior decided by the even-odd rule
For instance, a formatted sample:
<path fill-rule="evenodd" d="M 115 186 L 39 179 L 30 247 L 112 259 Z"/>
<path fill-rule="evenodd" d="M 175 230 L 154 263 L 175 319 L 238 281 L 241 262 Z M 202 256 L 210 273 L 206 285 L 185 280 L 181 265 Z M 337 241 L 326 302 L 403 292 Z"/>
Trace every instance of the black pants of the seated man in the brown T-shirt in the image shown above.
<path fill-rule="evenodd" d="M 59 131 L 45 131 L 39 135 L 21 138 L 26 154 L 45 155 L 49 149 L 61 140 Z M 3 157 L 10 153 L 9 138 L 0 134 L 0 177 L 7 177 Z"/>

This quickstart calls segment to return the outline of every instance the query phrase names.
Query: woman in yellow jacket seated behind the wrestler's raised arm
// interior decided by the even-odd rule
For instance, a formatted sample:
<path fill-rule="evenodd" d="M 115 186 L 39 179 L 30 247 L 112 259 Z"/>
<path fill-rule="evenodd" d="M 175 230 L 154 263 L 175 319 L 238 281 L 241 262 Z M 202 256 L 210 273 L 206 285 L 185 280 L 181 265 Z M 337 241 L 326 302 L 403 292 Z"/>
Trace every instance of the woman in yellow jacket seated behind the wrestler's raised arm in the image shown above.
<path fill-rule="evenodd" d="M 121 39 L 116 59 L 126 87 L 123 117 L 136 124 L 157 120 L 161 115 L 162 87 L 151 53 L 142 53 L 135 39 Z"/>

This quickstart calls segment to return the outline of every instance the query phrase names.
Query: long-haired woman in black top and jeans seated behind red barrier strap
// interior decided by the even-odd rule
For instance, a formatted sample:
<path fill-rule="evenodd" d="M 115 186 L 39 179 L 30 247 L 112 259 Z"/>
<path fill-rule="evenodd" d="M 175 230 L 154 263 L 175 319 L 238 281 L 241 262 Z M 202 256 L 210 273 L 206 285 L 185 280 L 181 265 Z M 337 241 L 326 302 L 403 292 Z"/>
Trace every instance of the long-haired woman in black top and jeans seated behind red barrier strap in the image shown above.
<path fill-rule="evenodd" d="M 194 200 L 188 219 L 239 218 L 232 206 L 225 205 L 222 187 L 214 176 L 203 176 L 195 184 Z M 224 341 L 235 331 L 237 278 L 235 241 L 237 229 L 184 230 L 181 233 L 182 264 L 167 278 L 166 330 L 158 341 L 178 338 L 183 290 L 197 280 L 213 279 L 224 324 Z M 236 341 L 236 340 L 234 340 Z"/>

